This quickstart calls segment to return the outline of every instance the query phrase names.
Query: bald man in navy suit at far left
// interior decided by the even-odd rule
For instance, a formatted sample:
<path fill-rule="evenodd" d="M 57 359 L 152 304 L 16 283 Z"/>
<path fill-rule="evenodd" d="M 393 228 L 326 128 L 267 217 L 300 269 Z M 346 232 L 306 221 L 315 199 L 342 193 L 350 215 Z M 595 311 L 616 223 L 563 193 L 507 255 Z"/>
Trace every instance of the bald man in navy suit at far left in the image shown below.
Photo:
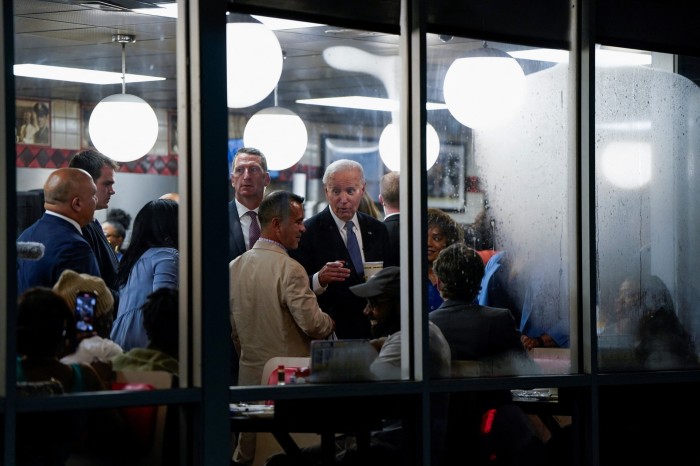
<path fill-rule="evenodd" d="M 46 212 L 17 239 L 42 243 L 44 256 L 18 262 L 18 294 L 33 286 L 53 287 L 66 269 L 100 276 L 95 253 L 82 234 L 96 207 L 97 187 L 85 170 L 59 168 L 49 175 L 44 183 Z"/>

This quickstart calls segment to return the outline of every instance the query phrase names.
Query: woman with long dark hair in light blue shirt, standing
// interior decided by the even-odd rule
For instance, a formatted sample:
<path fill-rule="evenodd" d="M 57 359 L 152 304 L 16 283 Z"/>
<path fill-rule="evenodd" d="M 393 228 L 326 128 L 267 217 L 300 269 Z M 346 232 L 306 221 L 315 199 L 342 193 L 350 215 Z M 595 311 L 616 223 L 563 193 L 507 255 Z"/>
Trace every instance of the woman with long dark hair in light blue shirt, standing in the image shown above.
<path fill-rule="evenodd" d="M 119 309 L 110 338 L 124 351 L 148 346 L 141 307 L 159 288 L 178 287 L 178 204 L 150 201 L 136 215 L 131 243 L 119 263 Z"/>

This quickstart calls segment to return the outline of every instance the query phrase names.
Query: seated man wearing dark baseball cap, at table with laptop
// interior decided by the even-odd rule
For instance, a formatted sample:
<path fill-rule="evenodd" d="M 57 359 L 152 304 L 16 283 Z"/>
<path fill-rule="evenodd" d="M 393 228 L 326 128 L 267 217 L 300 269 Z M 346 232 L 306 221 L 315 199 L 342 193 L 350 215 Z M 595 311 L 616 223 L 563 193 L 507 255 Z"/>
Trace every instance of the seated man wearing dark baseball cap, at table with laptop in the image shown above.
<path fill-rule="evenodd" d="M 372 363 L 370 370 L 382 379 L 398 379 L 401 377 L 401 299 L 400 299 L 399 267 L 386 267 L 379 271 L 366 283 L 350 287 L 355 295 L 367 298 L 364 314 L 372 323 L 372 342 L 379 348 L 379 354 Z M 449 377 L 450 348 L 440 329 L 429 323 L 430 359 L 427 368 L 434 378 Z M 445 394 L 435 394 L 431 397 L 431 452 L 432 464 L 439 464 L 442 457 L 443 442 L 447 419 L 447 397 Z M 369 457 L 357 451 L 356 448 L 344 448 L 337 452 L 336 459 L 343 465 L 382 465 L 393 466 L 402 464 L 403 453 L 409 448 L 402 444 L 403 435 L 401 422 L 392 420 L 385 422 L 381 431 L 370 435 Z M 321 460 L 320 446 L 303 448 L 295 458 L 286 454 L 270 457 L 268 466 L 309 465 L 318 464 Z"/>

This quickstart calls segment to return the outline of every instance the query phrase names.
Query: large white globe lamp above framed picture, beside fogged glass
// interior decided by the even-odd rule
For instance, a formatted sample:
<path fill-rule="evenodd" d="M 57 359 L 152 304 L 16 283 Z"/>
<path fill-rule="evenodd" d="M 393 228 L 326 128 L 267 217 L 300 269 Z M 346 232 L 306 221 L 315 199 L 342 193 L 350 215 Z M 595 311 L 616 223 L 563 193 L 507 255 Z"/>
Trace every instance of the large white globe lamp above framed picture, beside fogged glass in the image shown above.
<path fill-rule="evenodd" d="M 525 97 L 525 73 L 518 62 L 484 45 L 458 58 L 445 74 L 445 104 L 465 126 L 488 129 L 507 123 Z"/>

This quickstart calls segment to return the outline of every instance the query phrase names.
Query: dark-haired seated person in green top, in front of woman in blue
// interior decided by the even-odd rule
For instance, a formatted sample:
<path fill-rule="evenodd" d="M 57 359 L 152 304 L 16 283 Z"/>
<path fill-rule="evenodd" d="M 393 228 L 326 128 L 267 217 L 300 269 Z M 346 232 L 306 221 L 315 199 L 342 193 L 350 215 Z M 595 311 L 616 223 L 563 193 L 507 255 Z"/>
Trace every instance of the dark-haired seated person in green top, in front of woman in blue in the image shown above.
<path fill-rule="evenodd" d="M 177 375 L 178 291 L 173 288 L 157 289 L 146 298 L 142 312 L 148 346 L 132 348 L 115 356 L 112 359 L 112 368 L 115 371 L 167 371 Z"/>

